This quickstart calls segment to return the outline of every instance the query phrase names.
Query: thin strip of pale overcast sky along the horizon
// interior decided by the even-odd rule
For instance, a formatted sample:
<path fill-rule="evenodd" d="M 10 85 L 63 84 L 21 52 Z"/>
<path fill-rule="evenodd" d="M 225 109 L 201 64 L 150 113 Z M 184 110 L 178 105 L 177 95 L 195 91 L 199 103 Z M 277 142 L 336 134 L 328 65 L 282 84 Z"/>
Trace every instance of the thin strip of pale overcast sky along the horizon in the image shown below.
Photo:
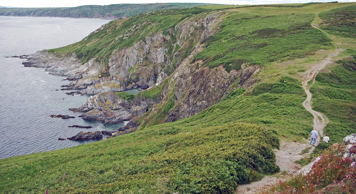
<path fill-rule="evenodd" d="M 215 4 L 282 4 L 282 3 L 307 3 L 307 2 L 330 2 L 334 0 L 5 0 L 0 1 L 0 6 L 13 7 L 75 7 L 79 5 L 110 5 L 121 3 L 156 3 L 156 2 L 196 2 Z M 356 2 L 356 0 L 337 0 L 339 2 Z"/>

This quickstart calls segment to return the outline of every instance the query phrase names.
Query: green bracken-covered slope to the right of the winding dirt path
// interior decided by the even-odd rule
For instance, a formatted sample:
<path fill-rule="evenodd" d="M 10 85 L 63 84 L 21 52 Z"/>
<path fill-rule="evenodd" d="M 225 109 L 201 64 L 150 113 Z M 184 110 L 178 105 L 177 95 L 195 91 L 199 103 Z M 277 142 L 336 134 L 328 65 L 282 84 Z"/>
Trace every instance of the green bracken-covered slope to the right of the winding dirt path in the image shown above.
<path fill-rule="evenodd" d="M 356 54 L 356 51 L 351 51 Z M 356 133 L 356 55 L 320 72 L 313 93 L 313 108 L 326 114 L 330 123 L 324 132 L 331 142 L 341 142 L 345 134 Z"/>

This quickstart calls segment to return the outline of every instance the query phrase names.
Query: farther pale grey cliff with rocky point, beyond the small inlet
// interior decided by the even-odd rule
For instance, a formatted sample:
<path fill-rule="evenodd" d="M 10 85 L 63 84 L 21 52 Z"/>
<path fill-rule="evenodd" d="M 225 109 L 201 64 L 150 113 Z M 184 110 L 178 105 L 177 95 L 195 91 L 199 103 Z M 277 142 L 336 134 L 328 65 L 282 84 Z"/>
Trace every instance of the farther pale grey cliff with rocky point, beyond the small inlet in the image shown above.
<path fill-rule="evenodd" d="M 80 90 L 77 92 L 79 94 L 151 87 L 161 83 L 182 63 L 187 48 L 215 32 L 212 25 L 221 21 L 220 15 L 221 12 L 216 12 L 198 20 L 179 23 L 168 29 L 165 35 L 163 32 L 152 32 L 132 47 L 114 50 L 107 65 L 95 58 L 82 65 L 74 53 L 58 58 L 46 51 L 28 56 L 24 64 L 46 68 L 53 75 L 68 76 L 67 79 L 73 81 L 64 85 L 63 90 Z M 124 34 L 119 34 L 111 44 L 117 43 L 122 37 L 130 38 L 137 29 L 145 28 L 147 22 L 151 21 L 135 25 Z M 98 33 L 104 27 L 93 33 Z M 105 76 L 101 75 L 103 72 L 106 72 Z"/>

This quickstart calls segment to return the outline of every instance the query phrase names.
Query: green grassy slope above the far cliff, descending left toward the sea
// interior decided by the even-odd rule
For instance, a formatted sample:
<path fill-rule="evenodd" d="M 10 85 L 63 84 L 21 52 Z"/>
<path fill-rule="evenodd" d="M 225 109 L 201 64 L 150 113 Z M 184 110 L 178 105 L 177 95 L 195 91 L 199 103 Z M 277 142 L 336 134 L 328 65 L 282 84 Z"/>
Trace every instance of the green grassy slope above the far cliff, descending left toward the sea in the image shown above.
<path fill-rule="evenodd" d="M 176 26 L 178 22 L 185 18 L 190 18 L 203 12 L 206 12 L 206 9 L 161 10 L 136 15 L 127 19 L 114 20 L 109 22 L 102 31 L 91 33 L 82 41 L 49 51 L 58 54 L 75 52 L 83 63 L 91 58 L 96 58 L 106 64 L 115 49 L 130 47 L 148 36 L 151 32 L 163 31 L 163 33 L 166 33 L 167 29 Z M 133 26 L 143 23 L 143 26 L 130 30 Z M 129 38 L 124 39 L 126 31 L 131 32 L 131 34 Z"/>

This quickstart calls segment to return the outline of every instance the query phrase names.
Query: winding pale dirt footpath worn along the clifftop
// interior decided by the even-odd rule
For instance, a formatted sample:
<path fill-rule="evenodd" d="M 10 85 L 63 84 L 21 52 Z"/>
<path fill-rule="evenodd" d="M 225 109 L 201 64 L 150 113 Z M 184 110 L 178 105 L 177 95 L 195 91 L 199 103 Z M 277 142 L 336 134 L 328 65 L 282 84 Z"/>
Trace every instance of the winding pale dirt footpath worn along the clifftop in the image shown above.
<path fill-rule="evenodd" d="M 321 61 L 318 64 L 313 65 L 313 67 L 305 72 L 305 80 L 302 82 L 302 87 L 307 93 L 307 98 L 303 102 L 303 106 L 307 111 L 312 113 L 314 119 L 313 119 L 313 128 L 318 131 L 318 141 L 320 141 L 320 136 L 323 135 L 323 130 L 325 126 L 328 124 L 328 119 L 321 114 L 320 112 L 317 112 L 313 110 L 312 108 L 312 93 L 310 93 L 309 88 L 308 88 L 308 83 L 309 81 L 313 80 L 312 85 L 315 83 L 315 76 L 318 74 L 320 70 L 325 68 L 326 65 L 331 63 L 331 58 L 333 56 L 336 56 L 337 52 L 330 54 L 326 59 Z M 312 86 L 310 85 L 310 86 Z M 279 180 L 286 180 L 288 179 L 293 173 L 295 173 L 298 169 L 300 169 L 300 165 L 297 165 L 294 163 L 295 161 L 310 155 L 312 151 L 314 150 L 314 147 L 311 147 L 311 149 L 308 151 L 307 154 L 302 155 L 300 152 L 307 148 L 309 145 L 309 141 L 301 144 L 298 142 L 285 142 L 282 141 L 280 145 L 280 149 L 274 150 L 274 153 L 276 154 L 276 163 L 280 167 L 281 171 L 287 171 L 286 176 L 279 176 L 279 177 L 274 177 L 274 176 L 266 176 L 260 181 L 252 182 L 250 184 L 245 184 L 245 185 L 240 185 L 236 189 L 237 194 L 253 194 L 258 192 L 259 190 L 262 190 L 263 188 L 267 187 L 268 185 L 272 185 L 276 183 Z"/>

